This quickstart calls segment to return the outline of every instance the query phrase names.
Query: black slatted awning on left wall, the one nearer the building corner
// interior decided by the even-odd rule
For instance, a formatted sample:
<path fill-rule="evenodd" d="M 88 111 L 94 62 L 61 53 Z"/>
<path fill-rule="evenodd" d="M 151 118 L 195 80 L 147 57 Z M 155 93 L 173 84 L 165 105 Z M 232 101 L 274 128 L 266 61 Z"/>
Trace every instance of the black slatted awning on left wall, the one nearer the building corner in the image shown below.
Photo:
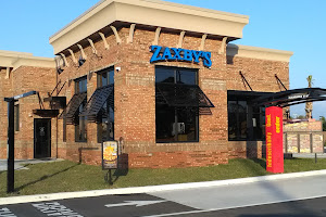
<path fill-rule="evenodd" d="M 88 116 L 96 118 L 98 113 L 103 107 L 104 103 L 109 101 L 108 106 L 113 108 L 114 106 L 114 85 L 109 85 L 102 88 L 98 88 L 87 102 L 84 111 L 79 116 Z"/>

